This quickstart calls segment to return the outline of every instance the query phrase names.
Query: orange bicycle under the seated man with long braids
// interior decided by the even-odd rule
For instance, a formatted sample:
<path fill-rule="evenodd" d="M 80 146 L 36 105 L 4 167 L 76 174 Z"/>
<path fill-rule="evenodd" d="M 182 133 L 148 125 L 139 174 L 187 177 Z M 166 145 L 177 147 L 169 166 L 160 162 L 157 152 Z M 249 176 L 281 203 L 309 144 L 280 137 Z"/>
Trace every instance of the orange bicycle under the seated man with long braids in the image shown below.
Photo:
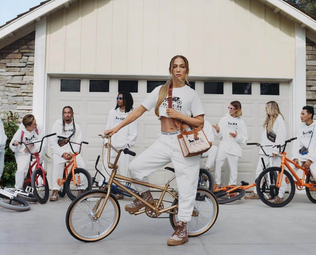
<path fill-rule="evenodd" d="M 57 184 L 61 186 L 60 190 L 58 191 L 58 195 L 63 197 L 67 193 L 67 196 L 71 200 L 74 200 L 78 195 L 82 194 L 83 192 L 87 190 L 92 190 L 92 178 L 90 173 L 83 168 L 78 168 L 76 162 L 76 156 L 80 154 L 82 144 L 88 143 L 83 141 L 81 143 L 76 143 L 70 141 L 69 138 L 63 136 L 57 137 L 68 140 L 70 148 L 73 152 L 72 160 L 65 163 L 63 178 L 57 180 Z M 71 146 L 72 143 L 80 145 L 79 152 L 74 152 Z M 72 166 L 68 173 L 68 168 L 70 167 L 70 165 Z"/>

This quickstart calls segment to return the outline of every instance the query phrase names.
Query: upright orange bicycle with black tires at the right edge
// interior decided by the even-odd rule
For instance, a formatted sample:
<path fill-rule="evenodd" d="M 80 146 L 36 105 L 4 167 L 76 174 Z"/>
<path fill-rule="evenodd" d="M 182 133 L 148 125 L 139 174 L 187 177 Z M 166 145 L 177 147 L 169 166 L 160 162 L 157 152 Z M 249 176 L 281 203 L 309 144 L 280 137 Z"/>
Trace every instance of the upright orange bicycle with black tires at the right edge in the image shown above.
<path fill-rule="evenodd" d="M 288 159 L 286 157 L 286 152 L 284 152 L 286 145 L 295 139 L 297 138 L 291 138 L 285 141 L 284 145 L 276 146 L 277 148 L 279 148 L 279 152 L 282 155 L 281 166 L 269 167 L 262 171 L 257 178 L 256 188 L 258 196 L 262 202 L 271 207 L 283 207 L 291 202 L 295 194 L 295 185 L 298 190 L 303 190 L 303 187 L 305 187 L 308 199 L 311 202 L 316 203 L 315 177 L 313 177 L 311 172 L 308 171 L 306 168 Z M 281 147 L 283 147 L 282 152 Z M 297 174 L 291 168 L 288 162 L 303 171 L 302 178 L 297 176 Z M 284 166 L 287 167 L 288 171 L 284 169 Z M 294 176 L 296 181 L 294 181 L 291 174 Z M 285 175 L 285 178 L 283 178 L 283 175 Z M 282 181 L 285 181 L 285 183 L 282 183 Z M 283 201 L 279 203 L 272 203 L 271 200 L 279 194 L 283 195 Z"/>

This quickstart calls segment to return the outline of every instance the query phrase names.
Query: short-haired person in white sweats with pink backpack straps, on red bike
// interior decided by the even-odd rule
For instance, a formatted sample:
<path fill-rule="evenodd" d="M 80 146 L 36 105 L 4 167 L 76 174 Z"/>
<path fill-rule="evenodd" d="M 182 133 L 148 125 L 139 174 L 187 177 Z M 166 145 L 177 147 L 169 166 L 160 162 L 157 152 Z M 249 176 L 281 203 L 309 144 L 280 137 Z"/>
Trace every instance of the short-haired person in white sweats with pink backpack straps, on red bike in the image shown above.
<path fill-rule="evenodd" d="M 24 179 L 27 175 L 28 167 L 31 161 L 31 155 L 25 148 L 24 144 L 19 144 L 20 141 L 25 143 L 32 143 L 42 140 L 44 136 L 44 130 L 42 127 L 36 124 L 34 115 L 27 114 L 23 117 L 22 123 L 19 129 L 15 132 L 11 142 L 10 149 L 15 152 L 15 160 L 17 164 L 17 170 L 15 172 L 15 188 L 23 189 Z M 29 150 L 33 153 L 40 149 L 40 143 L 28 145 Z M 45 140 L 40 152 L 40 163 L 44 161 L 46 152 Z"/>

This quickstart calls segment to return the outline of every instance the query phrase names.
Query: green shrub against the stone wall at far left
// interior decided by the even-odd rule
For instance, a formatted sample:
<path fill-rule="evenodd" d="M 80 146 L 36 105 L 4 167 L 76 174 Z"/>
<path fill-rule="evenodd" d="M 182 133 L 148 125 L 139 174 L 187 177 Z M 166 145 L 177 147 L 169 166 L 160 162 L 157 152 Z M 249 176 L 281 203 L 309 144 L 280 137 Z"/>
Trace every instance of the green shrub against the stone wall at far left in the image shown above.
<path fill-rule="evenodd" d="M 5 144 L 4 169 L 0 181 L 1 187 L 13 186 L 15 183 L 16 161 L 14 152 L 9 148 L 9 143 L 15 132 L 19 129 L 17 114 L 13 114 L 11 111 L 7 113 L 6 119 L 3 120 L 3 127 L 8 139 Z"/>

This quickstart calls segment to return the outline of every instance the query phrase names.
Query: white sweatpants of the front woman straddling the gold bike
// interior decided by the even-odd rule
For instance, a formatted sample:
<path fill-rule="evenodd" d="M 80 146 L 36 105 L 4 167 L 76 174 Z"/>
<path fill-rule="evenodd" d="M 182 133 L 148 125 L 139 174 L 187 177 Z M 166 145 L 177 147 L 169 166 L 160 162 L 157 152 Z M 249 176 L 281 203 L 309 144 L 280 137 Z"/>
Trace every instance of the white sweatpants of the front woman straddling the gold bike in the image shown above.
<path fill-rule="evenodd" d="M 184 158 L 176 135 L 161 135 L 153 145 L 139 154 L 129 164 L 131 177 L 148 182 L 148 176 L 164 165 L 172 162 L 179 193 L 179 221 L 190 222 L 194 207 L 200 155 Z M 136 190 L 143 193 L 148 187 L 135 184 Z"/>

